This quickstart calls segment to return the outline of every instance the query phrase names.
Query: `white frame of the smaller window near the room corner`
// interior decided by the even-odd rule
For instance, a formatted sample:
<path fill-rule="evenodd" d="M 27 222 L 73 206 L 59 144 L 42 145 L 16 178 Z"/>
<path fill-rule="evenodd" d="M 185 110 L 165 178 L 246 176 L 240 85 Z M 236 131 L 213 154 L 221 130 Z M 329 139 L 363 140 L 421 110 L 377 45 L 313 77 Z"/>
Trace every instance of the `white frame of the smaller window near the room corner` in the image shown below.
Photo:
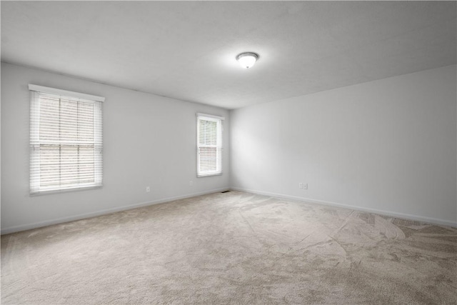
<path fill-rule="evenodd" d="M 197 159 L 197 172 L 196 176 L 198 178 L 207 177 L 207 176 L 219 176 L 223 174 L 223 134 L 224 134 L 224 117 L 223 116 L 214 116 L 211 114 L 201 114 L 197 113 L 197 120 L 196 120 L 196 159 Z M 200 122 L 201 121 L 214 121 L 216 122 L 216 144 L 215 145 L 201 145 L 200 144 Z M 216 170 L 214 171 L 202 171 L 201 170 L 201 158 L 200 158 L 200 151 L 201 148 L 205 147 L 214 147 L 216 148 Z"/>

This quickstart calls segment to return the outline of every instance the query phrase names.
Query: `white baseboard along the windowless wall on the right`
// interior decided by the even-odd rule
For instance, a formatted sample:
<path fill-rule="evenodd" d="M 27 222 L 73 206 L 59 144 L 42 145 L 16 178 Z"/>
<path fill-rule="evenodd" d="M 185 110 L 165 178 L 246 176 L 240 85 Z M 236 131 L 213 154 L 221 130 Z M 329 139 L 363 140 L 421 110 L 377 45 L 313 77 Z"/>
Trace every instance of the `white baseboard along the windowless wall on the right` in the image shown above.
<path fill-rule="evenodd" d="M 296 200 L 296 201 L 306 201 L 306 202 L 310 202 L 313 204 L 323 204 L 326 206 L 338 206 L 338 207 L 345 208 L 345 209 L 352 209 L 352 210 L 356 210 L 356 211 L 365 211 L 365 212 L 369 212 L 369 213 L 373 213 L 373 214 L 392 216 L 392 217 L 399 218 L 399 219 L 409 219 L 409 220 L 427 222 L 430 224 L 439 224 L 441 226 L 453 226 L 455 228 L 457 227 L 456 222 L 447 221 L 447 220 L 443 220 L 443 219 L 436 219 L 436 218 L 432 218 L 432 217 L 424 217 L 424 216 L 417 216 L 417 215 L 411 215 L 411 214 L 397 213 L 397 212 L 393 212 L 393 211 L 363 208 L 361 206 L 351 206 L 349 204 L 339 204 L 337 202 L 323 201 L 323 200 L 298 197 L 298 196 L 290 196 L 290 195 L 286 195 L 286 194 L 277 194 L 277 193 L 271 193 L 268 191 L 256 191 L 253 189 L 243 189 L 243 188 L 239 188 L 239 187 L 231 187 L 230 189 L 232 189 L 233 191 L 246 191 L 248 193 L 272 196 L 272 197 L 276 197 L 276 198 L 291 199 L 291 200 Z"/>

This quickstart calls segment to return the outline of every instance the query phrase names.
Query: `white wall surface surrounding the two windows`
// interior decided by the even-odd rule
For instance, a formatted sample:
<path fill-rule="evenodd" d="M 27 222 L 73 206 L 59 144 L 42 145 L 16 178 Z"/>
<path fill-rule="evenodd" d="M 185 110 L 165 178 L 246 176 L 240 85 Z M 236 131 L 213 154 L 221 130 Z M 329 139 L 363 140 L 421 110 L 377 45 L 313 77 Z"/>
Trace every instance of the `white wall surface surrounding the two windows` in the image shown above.
<path fill-rule="evenodd" d="M 102 189 L 29 196 L 28 84 L 106 97 Z M 226 117 L 221 176 L 196 178 L 196 112 Z M 1 64 L 1 233 L 228 189 L 229 124 L 225 109 Z"/>

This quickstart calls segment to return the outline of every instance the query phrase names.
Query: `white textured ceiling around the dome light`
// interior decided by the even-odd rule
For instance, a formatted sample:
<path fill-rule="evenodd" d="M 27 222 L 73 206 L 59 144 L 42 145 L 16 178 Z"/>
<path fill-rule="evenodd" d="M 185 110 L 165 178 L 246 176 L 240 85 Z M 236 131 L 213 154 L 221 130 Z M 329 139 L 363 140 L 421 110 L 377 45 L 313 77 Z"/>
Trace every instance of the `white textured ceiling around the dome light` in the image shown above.
<path fill-rule="evenodd" d="M 2 61 L 227 109 L 456 64 L 456 33 L 456 1 L 1 1 Z"/>

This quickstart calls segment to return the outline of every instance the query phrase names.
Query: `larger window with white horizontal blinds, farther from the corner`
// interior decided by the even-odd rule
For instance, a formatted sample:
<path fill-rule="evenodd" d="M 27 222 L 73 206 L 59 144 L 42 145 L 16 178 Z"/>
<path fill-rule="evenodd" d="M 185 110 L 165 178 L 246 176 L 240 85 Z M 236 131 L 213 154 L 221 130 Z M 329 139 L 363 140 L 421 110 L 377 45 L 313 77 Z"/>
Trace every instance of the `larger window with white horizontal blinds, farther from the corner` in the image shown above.
<path fill-rule="evenodd" d="M 30 193 L 101 186 L 104 97 L 29 84 Z"/>

